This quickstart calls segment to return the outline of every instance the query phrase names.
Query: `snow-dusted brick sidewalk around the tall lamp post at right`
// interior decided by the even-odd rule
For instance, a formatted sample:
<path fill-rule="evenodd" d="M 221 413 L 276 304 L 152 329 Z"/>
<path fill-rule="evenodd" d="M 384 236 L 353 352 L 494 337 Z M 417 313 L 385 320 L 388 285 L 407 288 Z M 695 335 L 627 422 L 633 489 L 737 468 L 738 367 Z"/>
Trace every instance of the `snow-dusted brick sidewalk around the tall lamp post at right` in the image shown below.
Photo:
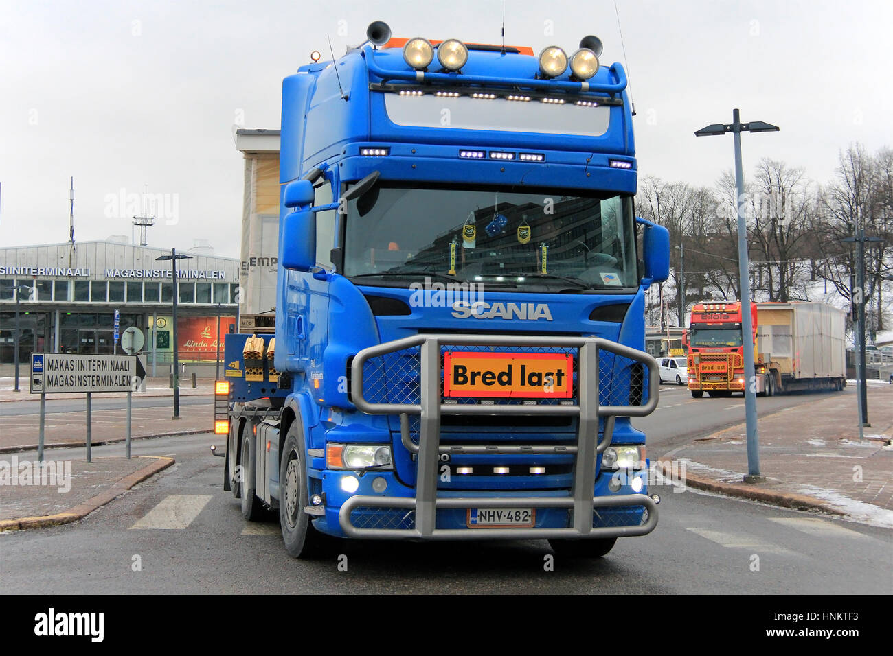
<path fill-rule="evenodd" d="M 677 475 L 684 463 L 691 487 L 893 528 L 893 386 L 869 381 L 872 428 L 864 428 L 862 442 L 856 413 L 855 394 L 836 394 L 761 417 L 764 482 L 743 482 L 745 424 L 674 449 L 660 462 L 667 476 L 671 463 Z"/>

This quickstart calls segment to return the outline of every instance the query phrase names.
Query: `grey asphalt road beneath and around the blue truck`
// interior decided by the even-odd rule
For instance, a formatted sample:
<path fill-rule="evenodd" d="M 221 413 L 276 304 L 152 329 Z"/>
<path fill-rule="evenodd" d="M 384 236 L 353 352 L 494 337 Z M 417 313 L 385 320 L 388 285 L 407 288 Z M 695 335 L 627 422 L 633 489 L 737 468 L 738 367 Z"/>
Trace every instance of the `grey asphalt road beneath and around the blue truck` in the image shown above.
<path fill-rule="evenodd" d="M 763 399 L 762 410 L 814 398 Z M 662 395 L 647 419 L 653 453 L 743 418 L 743 408 L 728 407 L 741 399 L 697 400 L 698 410 L 722 409 L 708 418 L 691 400 L 685 389 Z M 654 533 L 618 541 L 604 559 L 555 557 L 551 571 L 543 541 L 338 542 L 326 558 L 296 561 L 280 544 L 278 521 L 242 519 L 222 490 L 223 459 L 209 454 L 212 442 L 202 435 L 135 443 L 135 454 L 172 454 L 178 464 L 82 522 L 0 534 L 3 592 L 889 594 L 889 577 L 879 576 L 889 530 L 662 485 L 651 488 L 663 498 Z M 167 509 L 161 524 L 152 513 L 159 504 Z"/>

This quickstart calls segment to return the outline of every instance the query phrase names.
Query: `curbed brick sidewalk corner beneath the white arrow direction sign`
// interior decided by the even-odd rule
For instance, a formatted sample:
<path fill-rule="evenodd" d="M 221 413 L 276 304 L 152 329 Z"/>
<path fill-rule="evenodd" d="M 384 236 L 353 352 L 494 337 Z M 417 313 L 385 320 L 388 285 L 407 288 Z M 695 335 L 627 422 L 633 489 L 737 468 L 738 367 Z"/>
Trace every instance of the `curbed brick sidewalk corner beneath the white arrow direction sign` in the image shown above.
<path fill-rule="evenodd" d="M 54 461 L 0 456 L 0 531 L 68 524 L 83 519 L 174 463 L 139 456 Z"/>

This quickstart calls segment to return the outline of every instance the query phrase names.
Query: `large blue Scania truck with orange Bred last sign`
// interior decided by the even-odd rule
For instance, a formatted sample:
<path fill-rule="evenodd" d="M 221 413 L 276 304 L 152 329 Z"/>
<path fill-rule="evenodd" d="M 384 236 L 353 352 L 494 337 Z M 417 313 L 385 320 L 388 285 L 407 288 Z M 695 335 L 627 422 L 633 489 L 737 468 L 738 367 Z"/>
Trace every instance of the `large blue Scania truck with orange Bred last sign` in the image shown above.
<path fill-rule="evenodd" d="M 282 87 L 275 332 L 226 337 L 215 430 L 246 519 L 330 536 L 546 539 L 602 556 L 657 522 L 660 377 L 621 64 L 396 39 Z"/>

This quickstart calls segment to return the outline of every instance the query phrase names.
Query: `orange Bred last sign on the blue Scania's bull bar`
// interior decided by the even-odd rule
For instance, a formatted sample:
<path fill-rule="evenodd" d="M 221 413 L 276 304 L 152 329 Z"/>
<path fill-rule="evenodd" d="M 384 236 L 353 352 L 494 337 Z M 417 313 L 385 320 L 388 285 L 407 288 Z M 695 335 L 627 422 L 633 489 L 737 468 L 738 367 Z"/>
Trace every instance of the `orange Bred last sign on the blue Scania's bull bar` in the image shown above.
<path fill-rule="evenodd" d="M 570 398 L 566 353 L 444 353 L 444 396 Z"/>

